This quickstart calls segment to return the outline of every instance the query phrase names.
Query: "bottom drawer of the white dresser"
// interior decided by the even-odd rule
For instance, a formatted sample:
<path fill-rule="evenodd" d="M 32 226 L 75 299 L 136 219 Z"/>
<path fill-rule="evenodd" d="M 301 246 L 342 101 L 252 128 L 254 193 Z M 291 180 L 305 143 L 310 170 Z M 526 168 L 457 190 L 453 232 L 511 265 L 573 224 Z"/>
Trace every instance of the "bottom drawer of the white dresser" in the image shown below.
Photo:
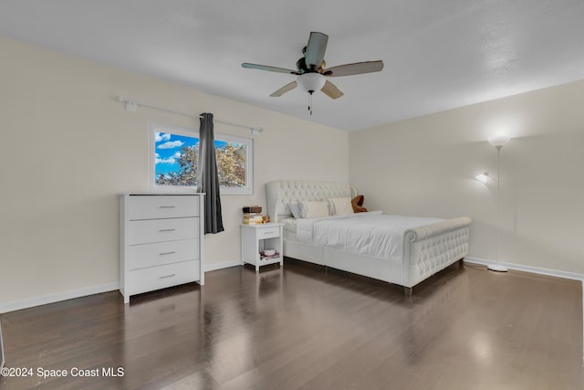
<path fill-rule="evenodd" d="M 149 269 L 134 269 L 128 272 L 127 294 L 164 289 L 200 279 L 199 260 L 183 261 Z"/>

